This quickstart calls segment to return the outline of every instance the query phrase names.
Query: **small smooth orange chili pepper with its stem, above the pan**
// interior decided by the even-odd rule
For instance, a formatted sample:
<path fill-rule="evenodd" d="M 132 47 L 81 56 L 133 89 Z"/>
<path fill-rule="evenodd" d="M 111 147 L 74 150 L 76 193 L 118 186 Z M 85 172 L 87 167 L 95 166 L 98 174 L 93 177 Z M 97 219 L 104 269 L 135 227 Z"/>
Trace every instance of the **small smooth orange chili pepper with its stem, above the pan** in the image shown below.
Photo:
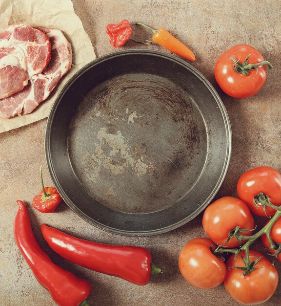
<path fill-rule="evenodd" d="M 141 22 L 137 22 L 136 24 L 151 30 L 154 33 L 154 35 L 152 36 L 152 40 L 155 43 L 160 44 L 162 47 L 168 49 L 169 51 L 175 54 L 180 55 L 181 57 L 189 61 L 195 61 L 194 53 L 185 44 L 182 44 L 176 37 L 170 34 L 163 27 L 160 27 L 158 30 L 155 30 Z"/>

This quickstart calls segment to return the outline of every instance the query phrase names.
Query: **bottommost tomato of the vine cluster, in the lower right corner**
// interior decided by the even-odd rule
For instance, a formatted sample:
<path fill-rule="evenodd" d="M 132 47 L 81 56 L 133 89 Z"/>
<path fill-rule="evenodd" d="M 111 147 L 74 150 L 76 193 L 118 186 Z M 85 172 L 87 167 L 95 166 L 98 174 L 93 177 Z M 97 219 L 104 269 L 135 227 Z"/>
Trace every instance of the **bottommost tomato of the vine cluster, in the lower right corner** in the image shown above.
<path fill-rule="evenodd" d="M 253 250 L 250 250 L 249 254 L 251 262 L 262 256 L 260 252 Z M 245 258 L 244 251 L 240 255 Z M 231 268 L 245 265 L 240 255 L 235 260 L 233 254 L 227 260 L 224 287 L 227 293 L 239 303 L 244 305 L 264 303 L 272 297 L 277 288 L 278 272 L 272 263 L 263 256 L 257 263 L 257 266 L 260 267 L 244 276 L 242 270 Z"/>

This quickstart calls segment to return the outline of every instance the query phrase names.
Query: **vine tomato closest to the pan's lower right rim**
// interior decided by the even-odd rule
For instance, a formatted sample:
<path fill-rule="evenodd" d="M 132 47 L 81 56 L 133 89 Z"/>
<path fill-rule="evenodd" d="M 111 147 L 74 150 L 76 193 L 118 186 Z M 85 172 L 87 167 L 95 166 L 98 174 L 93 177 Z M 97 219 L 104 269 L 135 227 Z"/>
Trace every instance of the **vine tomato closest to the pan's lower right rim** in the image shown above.
<path fill-rule="evenodd" d="M 255 221 L 248 206 L 237 197 L 221 197 L 210 204 L 204 211 L 202 223 L 204 231 L 216 244 L 224 244 L 229 231 L 236 226 L 240 226 L 241 229 L 255 227 Z M 241 234 L 250 236 L 252 232 Z M 242 243 L 244 242 L 245 240 L 242 240 Z M 233 248 L 239 245 L 239 241 L 233 237 L 225 247 Z"/>

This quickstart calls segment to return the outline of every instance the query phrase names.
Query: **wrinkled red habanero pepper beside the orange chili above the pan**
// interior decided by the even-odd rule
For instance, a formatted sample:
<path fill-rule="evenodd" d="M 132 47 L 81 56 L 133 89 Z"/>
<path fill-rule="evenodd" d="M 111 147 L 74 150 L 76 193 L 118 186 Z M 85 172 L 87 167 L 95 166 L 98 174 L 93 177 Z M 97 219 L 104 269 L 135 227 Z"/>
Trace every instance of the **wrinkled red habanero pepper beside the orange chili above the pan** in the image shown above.
<path fill-rule="evenodd" d="M 121 47 L 129 40 L 132 34 L 132 28 L 130 23 L 124 19 L 118 24 L 107 24 L 106 33 L 110 37 L 110 44 L 114 47 Z"/>

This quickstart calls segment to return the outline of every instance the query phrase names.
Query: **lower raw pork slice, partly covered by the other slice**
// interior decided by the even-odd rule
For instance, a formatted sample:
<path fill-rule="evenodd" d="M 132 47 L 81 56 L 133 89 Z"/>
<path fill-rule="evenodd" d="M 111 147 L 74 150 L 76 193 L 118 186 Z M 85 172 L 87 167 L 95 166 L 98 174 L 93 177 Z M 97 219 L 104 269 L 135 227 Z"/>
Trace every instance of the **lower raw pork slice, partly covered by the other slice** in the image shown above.
<path fill-rule="evenodd" d="M 71 45 L 59 29 L 37 27 L 46 33 L 52 45 L 51 60 L 46 69 L 34 75 L 20 92 L 0 100 L 0 115 L 11 118 L 28 114 L 50 95 L 72 64 Z"/>

